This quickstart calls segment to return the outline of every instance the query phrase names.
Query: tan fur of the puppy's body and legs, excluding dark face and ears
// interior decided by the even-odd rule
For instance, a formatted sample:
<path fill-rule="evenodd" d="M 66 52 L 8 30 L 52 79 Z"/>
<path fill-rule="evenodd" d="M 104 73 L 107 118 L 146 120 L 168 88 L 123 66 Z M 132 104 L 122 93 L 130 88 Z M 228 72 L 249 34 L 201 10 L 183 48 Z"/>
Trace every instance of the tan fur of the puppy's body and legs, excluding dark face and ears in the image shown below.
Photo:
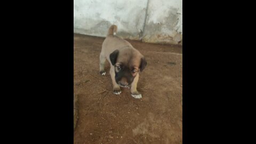
<path fill-rule="evenodd" d="M 100 71 L 104 70 L 105 61 L 108 60 L 110 63 L 110 76 L 113 83 L 113 90 L 120 91 L 121 89 L 119 85 L 115 81 L 115 66 L 111 65 L 111 61 L 109 55 L 114 52 L 115 50 L 119 50 L 119 55 L 117 59 L 116 65 L 118 65 L 119 61 L 127 67 L 134 67 L 135 69 L 139 70 L 141 58 L 143 55 L 136 50 L 129 42 L 125 41 L 122 38 L 119 38 L 114 35 L 116 33 L 117 26 L 112 25 L 109 30 L 105 41 L 102 43 L 102 49 L 100 53 Z M 135 76 L 132 84 L 131 84 L 131 93 L 132 94 L 139 94 L 137 91 L 137 83 L 139 80 L 139 73 Z"/>

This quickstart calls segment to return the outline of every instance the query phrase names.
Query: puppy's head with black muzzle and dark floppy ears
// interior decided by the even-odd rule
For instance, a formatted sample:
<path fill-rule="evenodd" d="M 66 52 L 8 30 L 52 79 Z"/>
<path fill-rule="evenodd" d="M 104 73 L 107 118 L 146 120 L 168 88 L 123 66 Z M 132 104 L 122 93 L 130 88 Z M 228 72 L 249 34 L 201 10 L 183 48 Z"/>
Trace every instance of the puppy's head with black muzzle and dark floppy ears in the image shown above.
<path fill-rule="evenodd" d="M 109 57 L 115 67 L 116 83 L 123 87 L 129 87 L 139 71 L 143 71 L 147 66 L 145 57 L 132 49 L 115 50 Z"/>

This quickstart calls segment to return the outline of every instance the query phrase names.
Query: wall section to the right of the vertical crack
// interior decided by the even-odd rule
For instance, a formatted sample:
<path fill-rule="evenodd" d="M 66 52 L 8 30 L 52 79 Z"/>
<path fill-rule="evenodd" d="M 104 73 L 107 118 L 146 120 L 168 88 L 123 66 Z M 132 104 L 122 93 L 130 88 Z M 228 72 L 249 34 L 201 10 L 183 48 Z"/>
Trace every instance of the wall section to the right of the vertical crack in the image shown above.
<path fill-rule="evenodd" d="M 182 0 L 149 0 L 143 42 L 174 43 L 182 40 Z"/>

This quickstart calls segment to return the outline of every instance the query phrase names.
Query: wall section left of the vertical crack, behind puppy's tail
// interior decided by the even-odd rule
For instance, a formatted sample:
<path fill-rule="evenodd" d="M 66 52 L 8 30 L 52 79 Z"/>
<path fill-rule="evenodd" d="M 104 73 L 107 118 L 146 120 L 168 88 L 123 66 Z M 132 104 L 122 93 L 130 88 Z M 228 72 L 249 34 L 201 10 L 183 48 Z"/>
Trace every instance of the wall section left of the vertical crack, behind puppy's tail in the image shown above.
<path fill-rule="evenodd" d="M 74 0 L 74 33 L 105 37 L 115 24 L 123 38 L 138 39 L 146 5 L 147 0 Z"/>

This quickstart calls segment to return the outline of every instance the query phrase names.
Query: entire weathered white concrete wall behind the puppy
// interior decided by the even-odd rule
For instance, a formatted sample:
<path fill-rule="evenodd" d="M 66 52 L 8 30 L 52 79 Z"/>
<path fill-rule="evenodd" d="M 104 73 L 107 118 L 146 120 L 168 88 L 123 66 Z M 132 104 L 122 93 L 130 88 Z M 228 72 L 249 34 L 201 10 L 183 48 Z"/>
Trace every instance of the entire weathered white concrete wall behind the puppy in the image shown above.
<path fill-rule="evenodd" d="M 74 0 L 74 33 L 105 37 L 112 24 L 122 38 L 178 44 L 182 0 Z"/>

